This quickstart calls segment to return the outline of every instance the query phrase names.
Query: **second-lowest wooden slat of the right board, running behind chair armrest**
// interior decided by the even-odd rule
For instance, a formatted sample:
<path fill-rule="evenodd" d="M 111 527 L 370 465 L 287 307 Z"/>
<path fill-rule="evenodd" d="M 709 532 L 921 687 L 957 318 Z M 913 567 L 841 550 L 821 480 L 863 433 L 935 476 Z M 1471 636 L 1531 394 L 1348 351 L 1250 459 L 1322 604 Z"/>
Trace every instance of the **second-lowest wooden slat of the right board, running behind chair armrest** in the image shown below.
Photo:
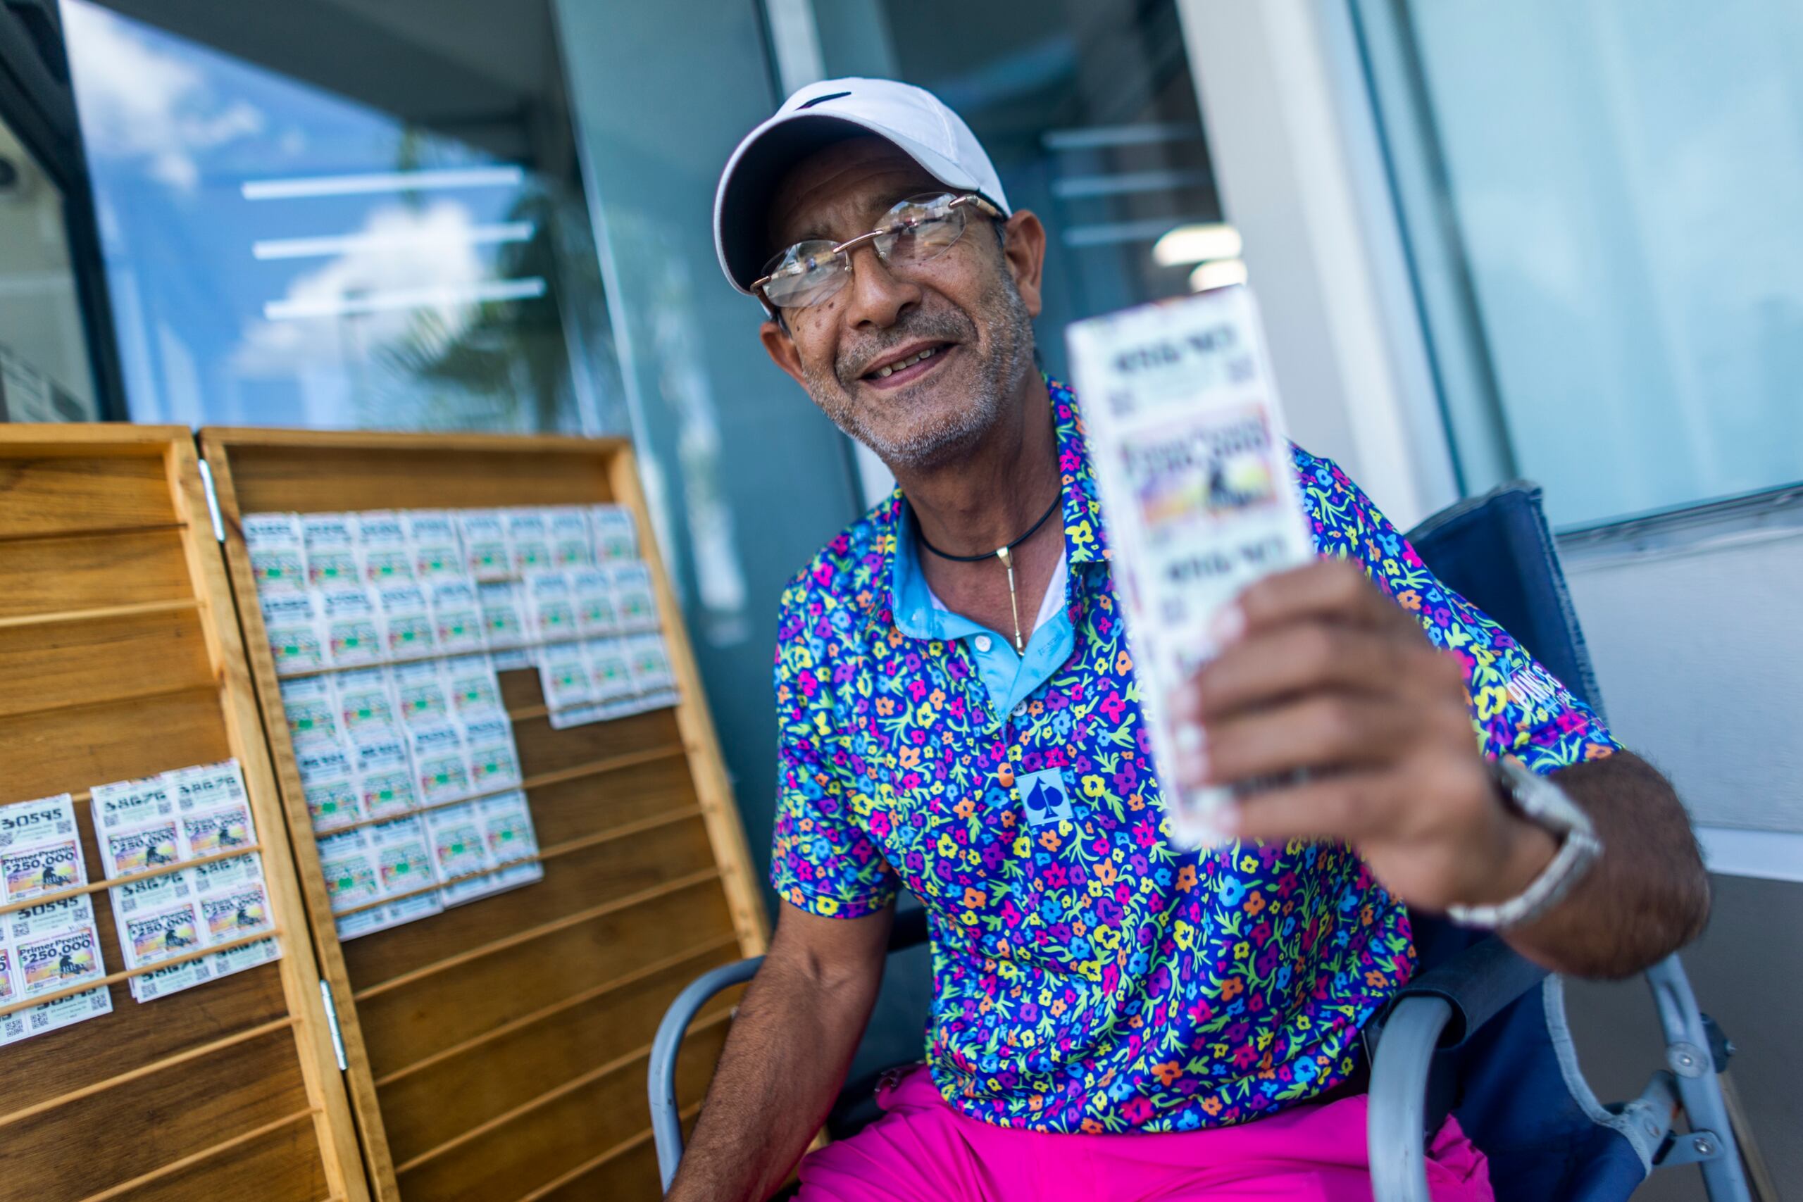
<path fill-rule="evenodd" d="M 678 1061 L 678 1097 L 700 1097 L 712 1078 L 727 1024 L 691 1029 Z M 600 1150 L 645 1128 L 644 1052 L 611 1072 L 559 1094 L 519 1121 L 490 1128 L 400 1173 L 400 1188 L 418 1198 L 517 1198 L 557 1180 Z"/>

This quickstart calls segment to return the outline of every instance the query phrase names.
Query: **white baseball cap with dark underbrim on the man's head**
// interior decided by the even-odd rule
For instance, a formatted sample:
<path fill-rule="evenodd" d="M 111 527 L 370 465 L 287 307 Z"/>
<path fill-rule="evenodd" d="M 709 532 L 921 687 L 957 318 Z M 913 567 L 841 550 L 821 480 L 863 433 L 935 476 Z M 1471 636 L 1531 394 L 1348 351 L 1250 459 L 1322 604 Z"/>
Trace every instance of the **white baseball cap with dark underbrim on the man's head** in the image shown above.
<path fill-rule="evenodd" d="M 938 96 L 894 79 L 822 79 L 797 88 L 746 133 L 719 173 L 714 250 L 734 288 L 750 296 L 752 281 L 764 274 L 770 195 L 788 169 L 822 146 L 869 133 L 894 142 L 947 187 L 979 193 L 1010 213 L 995 164 Z"/>

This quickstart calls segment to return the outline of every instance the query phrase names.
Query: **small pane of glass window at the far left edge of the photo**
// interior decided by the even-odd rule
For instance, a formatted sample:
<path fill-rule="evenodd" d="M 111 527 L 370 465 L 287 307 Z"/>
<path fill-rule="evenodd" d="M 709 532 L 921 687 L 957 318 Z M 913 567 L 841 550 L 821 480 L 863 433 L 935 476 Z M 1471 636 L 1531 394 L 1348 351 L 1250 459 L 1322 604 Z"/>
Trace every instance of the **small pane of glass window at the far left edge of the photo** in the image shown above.
<path fill-rule="evenodd" d="M 63 193 L 0 123 L 0 420 L 96 416 Z"/>

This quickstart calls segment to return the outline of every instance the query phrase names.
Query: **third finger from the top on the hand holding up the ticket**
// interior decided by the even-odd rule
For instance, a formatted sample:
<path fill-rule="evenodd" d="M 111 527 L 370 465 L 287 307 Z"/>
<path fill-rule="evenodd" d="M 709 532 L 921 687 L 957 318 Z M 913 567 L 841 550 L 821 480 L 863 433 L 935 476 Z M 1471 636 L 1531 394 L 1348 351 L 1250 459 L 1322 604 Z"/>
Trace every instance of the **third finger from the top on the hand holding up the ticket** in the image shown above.
<path fill-rule="evenodd" d="M 1275 705 L 1212 723 L 1199 748 L 1179 751 L 1185 786 L 1237 784 L 1296 769 L 1381 764 L 1406 742 L 1390 701 L 1349 692 Z"/>

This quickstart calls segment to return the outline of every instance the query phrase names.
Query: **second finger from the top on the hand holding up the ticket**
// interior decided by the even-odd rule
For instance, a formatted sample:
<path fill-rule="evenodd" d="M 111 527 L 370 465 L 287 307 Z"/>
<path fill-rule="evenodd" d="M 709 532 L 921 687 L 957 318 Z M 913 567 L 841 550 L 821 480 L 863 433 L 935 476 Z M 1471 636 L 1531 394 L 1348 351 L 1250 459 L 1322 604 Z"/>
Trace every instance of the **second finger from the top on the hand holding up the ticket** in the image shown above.
<path fill-rule="evenodd" d="M 1415 649 L 1365 627 L 1300 622 L 1230 643 L 1185 690 L 1179 717 L 1203 724 L 1293 694 L 1370 692 L 1406 678 Z M 1421 647 L 1426 652 L 1426 645 Z"/>

